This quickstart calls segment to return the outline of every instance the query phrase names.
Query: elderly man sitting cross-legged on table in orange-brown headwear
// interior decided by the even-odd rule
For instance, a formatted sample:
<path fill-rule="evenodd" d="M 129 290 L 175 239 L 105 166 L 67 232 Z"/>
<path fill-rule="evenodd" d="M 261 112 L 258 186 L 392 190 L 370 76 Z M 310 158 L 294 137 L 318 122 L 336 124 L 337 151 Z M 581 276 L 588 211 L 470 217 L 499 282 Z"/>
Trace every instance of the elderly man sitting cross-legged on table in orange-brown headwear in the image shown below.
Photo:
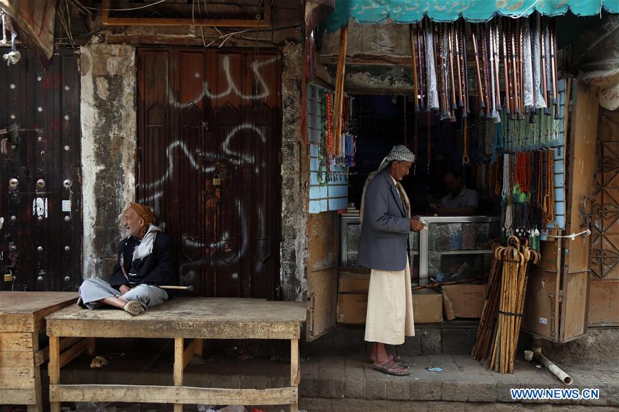
<path fill-rule="evenodd" d="M 147 206 L 129 204 L 123 213 L 127 236 L 118 246 L 118 261 L 109 283 L 87 279 L 79 288 L 78 305 L 96 309 L 109 305 L 137 315 L 168 299 L 158 285 L 172 279 L 171 239 L 154 226 L 155 217 Z"/>

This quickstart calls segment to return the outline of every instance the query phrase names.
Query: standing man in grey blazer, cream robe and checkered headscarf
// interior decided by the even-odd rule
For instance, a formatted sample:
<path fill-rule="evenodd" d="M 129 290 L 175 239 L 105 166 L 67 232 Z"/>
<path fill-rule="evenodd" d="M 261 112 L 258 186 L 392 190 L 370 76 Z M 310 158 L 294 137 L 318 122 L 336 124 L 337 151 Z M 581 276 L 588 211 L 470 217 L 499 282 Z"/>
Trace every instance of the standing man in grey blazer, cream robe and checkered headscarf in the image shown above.
<path fill-rule="evenodd" d="M 401 345 L 404 336 L 415 336 L 408 232 L 419 232 L 423 224 L 410 217 L 410 202 L 399 183 L 414 161 L 406 146 L 393 147 L 368 176 L 361 197 L 357 262 L 371 269 L 365 340 L 373 343 L 374 369 L 396 376 L 408 370 L 387 354 L 385 345 Z"/>

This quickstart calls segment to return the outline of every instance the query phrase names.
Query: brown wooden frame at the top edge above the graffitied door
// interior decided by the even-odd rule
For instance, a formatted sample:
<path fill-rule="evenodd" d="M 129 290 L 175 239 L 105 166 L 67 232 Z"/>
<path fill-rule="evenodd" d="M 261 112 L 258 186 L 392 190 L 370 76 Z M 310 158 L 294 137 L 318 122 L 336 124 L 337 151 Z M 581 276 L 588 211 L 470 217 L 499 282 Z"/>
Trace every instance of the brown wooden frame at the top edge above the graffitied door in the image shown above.
<path fill-rule="evenodd" d="M 271 27 L 271 1 L 264 2 L 264 17 L 260 19 L 145 19 L 140 17 L 109 17 L 109 0 L 103 0 L 103 25 L 175 26 L 198 25 L 220 28 L 269 28 Z"/>

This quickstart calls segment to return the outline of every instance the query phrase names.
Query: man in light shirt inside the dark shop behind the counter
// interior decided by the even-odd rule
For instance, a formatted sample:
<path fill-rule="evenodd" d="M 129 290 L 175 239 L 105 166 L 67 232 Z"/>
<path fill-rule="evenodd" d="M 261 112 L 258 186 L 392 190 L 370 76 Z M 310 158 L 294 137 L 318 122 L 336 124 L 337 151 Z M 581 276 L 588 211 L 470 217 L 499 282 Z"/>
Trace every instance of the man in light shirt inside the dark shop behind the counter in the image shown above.
<path fill-rule="evenodd" d="M 434 213 L 439 216 L 470 216 L 474 215 L 479 202 L 477 191 L 466 188 L 462 180 L 462 171 L 452 169 L 445 173 L 443 182 L 449 194 L 441 200 L 441 205 L 431 205 Z"/>

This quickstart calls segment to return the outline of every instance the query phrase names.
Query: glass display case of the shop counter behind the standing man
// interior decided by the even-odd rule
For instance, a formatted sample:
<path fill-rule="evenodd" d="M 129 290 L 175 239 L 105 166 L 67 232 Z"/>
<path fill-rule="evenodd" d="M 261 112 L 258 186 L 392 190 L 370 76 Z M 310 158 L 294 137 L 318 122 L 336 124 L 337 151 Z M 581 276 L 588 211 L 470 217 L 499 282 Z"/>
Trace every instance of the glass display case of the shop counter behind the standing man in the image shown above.
<path fill-rule="evenodd" d="M 490 241 L 499 239 L 498 216 L 428 216 L 426 229 L 410 232 L 414 285 L 485 277 L 492 261 Z M 361 226 L 358 216 L 340 217 L 339 265 L 356 266 Z"/>

